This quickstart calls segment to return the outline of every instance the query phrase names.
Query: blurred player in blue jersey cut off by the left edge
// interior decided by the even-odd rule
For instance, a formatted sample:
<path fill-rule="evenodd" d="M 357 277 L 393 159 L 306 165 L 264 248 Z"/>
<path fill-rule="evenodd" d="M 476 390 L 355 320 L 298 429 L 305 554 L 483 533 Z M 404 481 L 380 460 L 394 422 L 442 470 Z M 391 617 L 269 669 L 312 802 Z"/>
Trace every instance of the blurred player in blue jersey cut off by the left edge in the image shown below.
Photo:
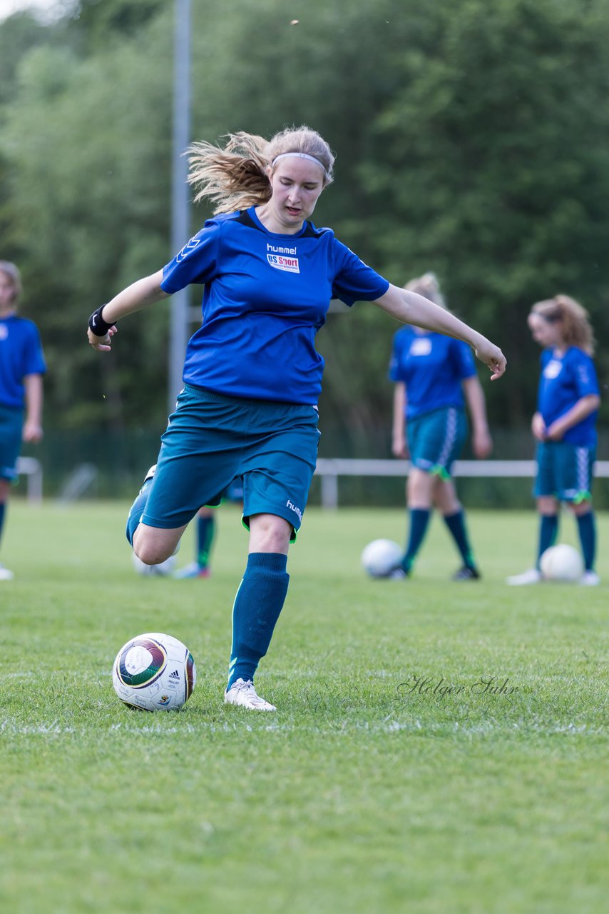
<path fill-rule="evenodd" d="M 36 324 L 16 313 L 21 277 L 0 260 L 0 537 L 22 441 L 42 439 L 42 376 L 45 358 Z M 0 581 L 13 572 L 0 565 Z"/>

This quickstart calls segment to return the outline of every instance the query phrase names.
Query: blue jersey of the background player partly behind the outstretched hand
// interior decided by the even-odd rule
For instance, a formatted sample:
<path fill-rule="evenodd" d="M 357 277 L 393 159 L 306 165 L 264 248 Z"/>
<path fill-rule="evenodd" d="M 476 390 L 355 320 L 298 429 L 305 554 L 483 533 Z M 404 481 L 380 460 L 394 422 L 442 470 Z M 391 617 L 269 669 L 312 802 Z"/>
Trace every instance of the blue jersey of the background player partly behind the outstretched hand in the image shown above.
<path fill-rule="evenodd" d="M 389 377 L 406 386 L 406 419 L 449 406 L 464 409 L 461 382 L 475 374 L 471 349 L 462 340 L 409 326 L 394 335 Z"/>

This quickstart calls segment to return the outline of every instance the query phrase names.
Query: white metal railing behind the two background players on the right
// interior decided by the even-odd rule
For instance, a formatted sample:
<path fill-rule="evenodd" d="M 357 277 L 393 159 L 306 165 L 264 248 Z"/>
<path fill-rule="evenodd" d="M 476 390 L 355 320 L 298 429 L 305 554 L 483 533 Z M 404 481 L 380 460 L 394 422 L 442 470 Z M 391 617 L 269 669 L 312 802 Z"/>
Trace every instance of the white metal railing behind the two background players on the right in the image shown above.
<path fill-rule="evenodd" d="M 537 464 L 533 460 L 457 460 L 454 476 L 520 477 L 532 479 Z M 339 476 L 402 476 L 408 475 L 410 461 L 406 460 L 350 460 L 347 458 L 320 457 L 315 475 L 320 476 L 321 506 L 339 506 Z M 609 461 L 597 461 L 595 476 L 609 476 Z"/>

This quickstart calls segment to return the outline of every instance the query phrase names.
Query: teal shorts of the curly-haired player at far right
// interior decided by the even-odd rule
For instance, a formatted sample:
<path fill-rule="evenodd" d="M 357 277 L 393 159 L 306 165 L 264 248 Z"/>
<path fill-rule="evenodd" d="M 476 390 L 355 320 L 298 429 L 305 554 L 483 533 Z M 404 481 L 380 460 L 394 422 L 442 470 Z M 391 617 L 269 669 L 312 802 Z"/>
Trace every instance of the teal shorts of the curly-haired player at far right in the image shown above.
<path fill-rule="evenodd" d="M 570 441 L 541 441 L 536 456 L 535 497 L 553 495 L 573 505 L 592 497 L 596 448 L 583 448 Z"/>

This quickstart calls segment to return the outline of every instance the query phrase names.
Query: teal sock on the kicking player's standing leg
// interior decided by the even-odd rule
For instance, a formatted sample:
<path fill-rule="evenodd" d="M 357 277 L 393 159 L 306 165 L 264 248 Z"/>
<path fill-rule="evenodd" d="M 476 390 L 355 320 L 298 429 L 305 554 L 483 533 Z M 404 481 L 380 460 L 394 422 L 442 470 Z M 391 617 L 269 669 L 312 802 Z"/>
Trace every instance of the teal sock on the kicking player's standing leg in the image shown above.
<path fill-rule="evenodd" d="M 288 593 L 288 557 L 278 552 L 250 552 L 233 605 L 233 646 L 228 666 L 230 688 L 237 679 L 254 679 L 268 651 Z"/>

